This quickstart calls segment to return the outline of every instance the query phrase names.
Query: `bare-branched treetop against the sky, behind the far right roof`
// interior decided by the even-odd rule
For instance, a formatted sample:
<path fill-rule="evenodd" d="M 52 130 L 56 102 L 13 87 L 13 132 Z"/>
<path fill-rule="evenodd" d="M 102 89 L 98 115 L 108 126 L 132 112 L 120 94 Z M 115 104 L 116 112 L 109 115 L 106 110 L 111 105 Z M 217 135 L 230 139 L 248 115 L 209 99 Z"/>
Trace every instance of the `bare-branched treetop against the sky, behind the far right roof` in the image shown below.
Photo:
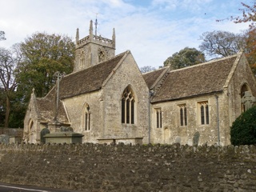
<path fill-rule="evenodd" d="M 245 46 L 245 39 L 242 34 L 234 34 L 221 30 L 205 32 L 200 36 L 200 40 L 202 40 L 199 46 L 200 50 L 210 57 L 226 57 L 237 54 Z"/>

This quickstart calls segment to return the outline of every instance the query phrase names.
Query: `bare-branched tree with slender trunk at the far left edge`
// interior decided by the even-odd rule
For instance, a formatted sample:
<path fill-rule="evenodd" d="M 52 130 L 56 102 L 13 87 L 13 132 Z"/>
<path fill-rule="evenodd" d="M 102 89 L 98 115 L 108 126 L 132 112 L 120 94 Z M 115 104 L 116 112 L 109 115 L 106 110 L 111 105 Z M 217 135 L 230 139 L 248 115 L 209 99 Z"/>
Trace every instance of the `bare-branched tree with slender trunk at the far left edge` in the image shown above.
<path fill-rule="evenodd" d="M 11 50 L 0 48 L 0 88 L 6 102 L 2 104 L 2 110 L 5 109 L 4 127 L 9 126 L 11 98 L 17 87 L 17 76 L 19 65 L 22 60 L 22 54 L 19 51 L 18 44 Z"/>

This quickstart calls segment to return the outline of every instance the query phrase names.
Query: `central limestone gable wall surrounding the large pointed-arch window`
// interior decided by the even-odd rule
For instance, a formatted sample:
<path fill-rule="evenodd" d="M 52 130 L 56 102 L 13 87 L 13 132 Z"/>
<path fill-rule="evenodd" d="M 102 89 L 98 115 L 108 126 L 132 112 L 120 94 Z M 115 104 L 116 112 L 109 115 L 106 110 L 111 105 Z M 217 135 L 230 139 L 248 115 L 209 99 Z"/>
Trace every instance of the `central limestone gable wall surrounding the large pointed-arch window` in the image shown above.
<path fill-rule="evenodd" d="M 135 95 L 134 124 L 121 122 L 122 94 L 130 86 Z M 148 143 L 148 97 L 149 90 L 142 78 L 141 72 L 129 53 L 122 65 L 113 71 L 111 78 L 103 87 L 104 90 L 104 137 L 135 138 L 142 137 Z"/>

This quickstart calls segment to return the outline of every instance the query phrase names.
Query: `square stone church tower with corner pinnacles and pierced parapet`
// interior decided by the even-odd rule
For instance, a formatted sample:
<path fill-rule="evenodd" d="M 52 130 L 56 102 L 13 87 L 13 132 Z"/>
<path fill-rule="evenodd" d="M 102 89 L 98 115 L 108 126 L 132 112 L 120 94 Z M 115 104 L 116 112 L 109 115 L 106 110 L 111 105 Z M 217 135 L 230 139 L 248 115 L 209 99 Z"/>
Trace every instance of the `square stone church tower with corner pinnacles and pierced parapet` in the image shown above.
<path fill-rule="evenodd" d="M 96 26 L 97 27 L 97 26 Z M 115 32 L 113 29 L 112 40 L 93 34 L 93 22 L 90 20 L 89 35 L 79 39 L 79 29 L 75 38 L 74 72 L 85 70 L 90 66 L 104 62 L 115 55 Z"/>

